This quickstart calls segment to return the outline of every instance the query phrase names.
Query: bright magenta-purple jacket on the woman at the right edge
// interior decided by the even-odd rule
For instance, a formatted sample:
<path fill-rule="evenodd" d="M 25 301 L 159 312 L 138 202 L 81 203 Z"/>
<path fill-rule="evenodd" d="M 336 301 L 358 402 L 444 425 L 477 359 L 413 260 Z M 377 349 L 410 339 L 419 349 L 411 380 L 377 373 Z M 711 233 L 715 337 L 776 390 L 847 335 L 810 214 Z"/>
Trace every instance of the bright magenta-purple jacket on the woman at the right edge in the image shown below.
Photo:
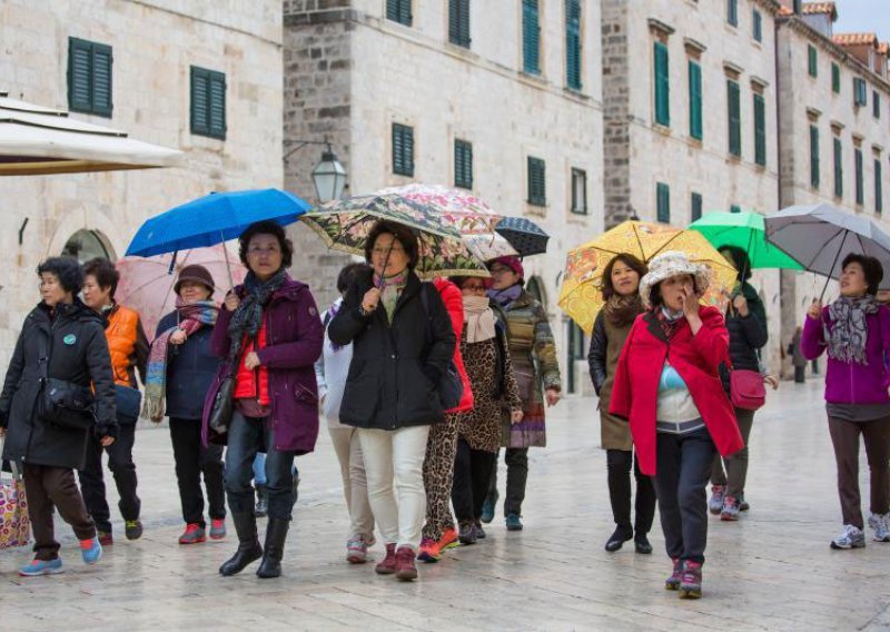
<path fill-rule="evenodd" d="M 831 329 L 828 307 L 822 309 L 821 320 L 807 316 L 801 337 L 801 349 L 807 359 L 815 359 L 828 346 L 822 323 Z M 881 306 L 877 314 L 866 319 L 868 338 L 866 359 L 868 364 L 828 358 L 825 373 L 825 402 L 832 404 L 888 404 L 890 396 L 890 371 L 886 358 L 890 357 L 890 308 Z"/>

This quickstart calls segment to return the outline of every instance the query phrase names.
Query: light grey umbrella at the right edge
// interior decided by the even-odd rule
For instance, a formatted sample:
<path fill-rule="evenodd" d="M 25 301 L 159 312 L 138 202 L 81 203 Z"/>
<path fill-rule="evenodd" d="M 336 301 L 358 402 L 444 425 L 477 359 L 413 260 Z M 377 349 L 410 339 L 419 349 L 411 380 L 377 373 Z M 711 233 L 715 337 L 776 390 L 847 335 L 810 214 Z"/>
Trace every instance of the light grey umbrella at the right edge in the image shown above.
<path fill-rule="evenodd" d="M 840 278 L 843 258 L 851 253 L 876 257 L 884 269 L 880 288 L 890 289 L 890 235 L 868 217 L 817 204 L 783 208 L 764 224 L 768 241 L 829 278 Z"/>

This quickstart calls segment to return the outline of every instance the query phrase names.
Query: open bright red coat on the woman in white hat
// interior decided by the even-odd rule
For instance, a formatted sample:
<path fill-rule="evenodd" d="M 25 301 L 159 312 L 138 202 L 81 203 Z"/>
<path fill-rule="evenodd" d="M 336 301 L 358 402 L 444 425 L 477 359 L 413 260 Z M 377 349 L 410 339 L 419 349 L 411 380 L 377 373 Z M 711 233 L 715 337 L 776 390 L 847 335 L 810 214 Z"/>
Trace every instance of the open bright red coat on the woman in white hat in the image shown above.
<path fill-rule="evenodd" d="M 702 307 L 699 315 L 702 319 L 699 333 L 693 336 L 683 319 L 669 345 L 655 315 L 641 314 L 619 358 L 609 412 L 630 419 L 640 470 L 647 476 L 655 474 L 659 381 L 669 353 L 671 365 L 686 383 L 720 454 L 726 456 L 744 447 L 735 412 L 718 372 L 721 363 L 731 366 L 730 336 L 723 315 L 716 307 Z"/>

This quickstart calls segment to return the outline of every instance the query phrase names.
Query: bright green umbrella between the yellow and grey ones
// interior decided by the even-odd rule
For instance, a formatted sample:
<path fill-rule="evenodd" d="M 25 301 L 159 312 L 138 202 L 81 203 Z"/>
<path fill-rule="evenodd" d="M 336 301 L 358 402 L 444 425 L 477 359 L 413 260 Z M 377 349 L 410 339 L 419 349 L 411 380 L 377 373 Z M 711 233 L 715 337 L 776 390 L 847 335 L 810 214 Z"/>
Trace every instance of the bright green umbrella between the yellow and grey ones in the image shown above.
<path fill-rule="evenodd" d="M 748 253 L 751 268 L 803 269 L 798 261 L 767 241 L 763 216 L 759 213 L 709 213 L 690 224 L 704 235 L 714 248 L 734 246 Z"/>

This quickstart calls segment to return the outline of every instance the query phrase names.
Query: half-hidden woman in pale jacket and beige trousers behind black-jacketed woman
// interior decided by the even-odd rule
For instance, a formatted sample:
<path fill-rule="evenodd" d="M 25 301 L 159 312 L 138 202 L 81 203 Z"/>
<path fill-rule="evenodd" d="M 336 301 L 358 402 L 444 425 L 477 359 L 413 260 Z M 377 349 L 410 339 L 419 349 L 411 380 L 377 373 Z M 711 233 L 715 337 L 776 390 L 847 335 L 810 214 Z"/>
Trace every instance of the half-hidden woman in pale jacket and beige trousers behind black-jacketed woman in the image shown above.
<path fill-rule="evenodd" d="M 325 344 L 322 357 L 315 364 L 315 377 L 318 381 L 318 396 L 322 398 L 322 414 L 327 419 L 330 443 L 340 464 L 343 476 L 343 495 L 346 496 L 346 510 L 349 512 L 349 533 L 346 541 L 346 561 L 350 564 L 364 564 L 367 561 L 368 547 L 374 544 L 374 514 L 368 501 L 368 485 L 365 476 L 365 461 L 358 442 L 358 431 L 340 423 L 340 404 L 346 389 L 346 378 L 353 361 L 353 345 L 335 345 L 330 342 L 327 326 L 343 308 L 346 290 L 362 274 L 369 274 L 365 264 L 349 264 L 337 275 L 337 290 L 340 298 L 334 302 L 323 323 L 325 325 Z"/>

